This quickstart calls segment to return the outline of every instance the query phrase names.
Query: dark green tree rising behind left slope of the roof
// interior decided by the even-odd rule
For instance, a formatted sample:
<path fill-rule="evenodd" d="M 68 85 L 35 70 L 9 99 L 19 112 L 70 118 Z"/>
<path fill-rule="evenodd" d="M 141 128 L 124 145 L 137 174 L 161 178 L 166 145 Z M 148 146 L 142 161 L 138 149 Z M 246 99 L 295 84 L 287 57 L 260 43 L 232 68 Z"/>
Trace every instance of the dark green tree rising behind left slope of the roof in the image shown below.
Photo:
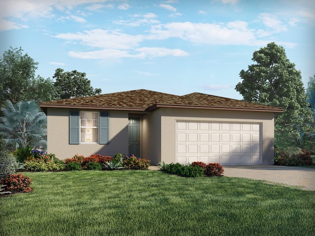
<path fill-rule="evenodd" d="M 91 96 L 100 94 L 102 91 L 93 89 L 91 81 L 86 78 L 86 73 L 77 70 L 63 72 L 63 69 L 57 68 L 53 78 L 56 79 L 56 92 L 61 99 Z"/>

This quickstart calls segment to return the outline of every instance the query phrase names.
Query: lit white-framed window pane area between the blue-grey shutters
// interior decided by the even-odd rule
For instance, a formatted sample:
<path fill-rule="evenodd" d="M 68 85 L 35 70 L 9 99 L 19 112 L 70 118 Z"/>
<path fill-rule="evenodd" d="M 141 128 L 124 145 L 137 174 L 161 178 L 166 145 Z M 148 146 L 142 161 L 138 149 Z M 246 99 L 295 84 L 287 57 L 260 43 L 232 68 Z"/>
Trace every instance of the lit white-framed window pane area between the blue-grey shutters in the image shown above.
<path fill-rule="evenodd" d="M 80 143 L 98 143 L 98 112 L 80 112 Z"/>

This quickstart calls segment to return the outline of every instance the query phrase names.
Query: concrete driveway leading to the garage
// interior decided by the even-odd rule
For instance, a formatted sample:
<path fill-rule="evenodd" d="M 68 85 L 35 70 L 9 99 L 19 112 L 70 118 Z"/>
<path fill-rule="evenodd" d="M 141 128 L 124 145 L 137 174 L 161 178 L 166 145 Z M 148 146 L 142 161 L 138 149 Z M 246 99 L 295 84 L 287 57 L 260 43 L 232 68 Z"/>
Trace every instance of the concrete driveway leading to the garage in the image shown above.
<path fill-rule="evenodd" d="M 315 191 L 315 169 L 292 166 L 223 166 L 226 177 L 267 180 Z"/>

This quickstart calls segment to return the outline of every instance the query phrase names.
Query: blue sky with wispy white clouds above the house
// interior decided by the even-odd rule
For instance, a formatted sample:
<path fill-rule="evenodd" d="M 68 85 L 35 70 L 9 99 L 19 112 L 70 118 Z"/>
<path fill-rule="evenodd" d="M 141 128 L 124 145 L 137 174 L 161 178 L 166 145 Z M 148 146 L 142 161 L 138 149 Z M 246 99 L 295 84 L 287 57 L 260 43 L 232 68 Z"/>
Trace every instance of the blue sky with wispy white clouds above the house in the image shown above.
<path fill-rule="evenodd" d="M 315 74 L 312 0 L 0 0 L 0 55 L 22 47 L 39 63 L 85 72 L 102 93 L 150 89 L 242 99 L 252 53 L 275 42 Z"/>

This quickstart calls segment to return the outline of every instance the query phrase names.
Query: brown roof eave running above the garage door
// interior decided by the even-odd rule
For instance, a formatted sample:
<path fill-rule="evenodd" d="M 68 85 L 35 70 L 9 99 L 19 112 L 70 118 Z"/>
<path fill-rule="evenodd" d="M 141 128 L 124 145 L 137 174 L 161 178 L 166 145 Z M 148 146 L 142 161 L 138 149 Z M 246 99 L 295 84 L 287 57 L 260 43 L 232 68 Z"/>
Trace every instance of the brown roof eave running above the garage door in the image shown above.
<path fill-rule="evenodd" d="M 204 110 L 227 110 L 227 111 L 249 111 L 249 112 L 273 112 L 282 113 L 282 108 L 248 108 L 248 107 L 220 107 L 220 106 L 197 106 L 197 105 L 176 105 L 176 104 L 154 104 L 149 107 L 147 111 L 155 111 L 158 108 L 190 108 L 190 109 L 204 109 Z"/>

